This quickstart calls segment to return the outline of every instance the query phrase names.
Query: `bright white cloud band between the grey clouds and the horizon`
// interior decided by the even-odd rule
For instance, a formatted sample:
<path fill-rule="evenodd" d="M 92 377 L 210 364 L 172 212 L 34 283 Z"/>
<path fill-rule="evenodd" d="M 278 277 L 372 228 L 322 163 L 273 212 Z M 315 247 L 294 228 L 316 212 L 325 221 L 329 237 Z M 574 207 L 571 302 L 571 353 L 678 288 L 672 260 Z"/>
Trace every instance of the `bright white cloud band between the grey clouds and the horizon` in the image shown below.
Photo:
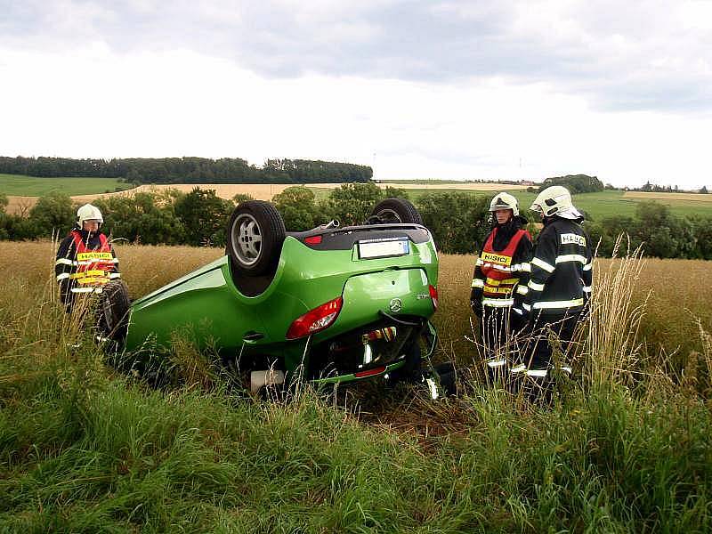
<path fill-rule="evenodd" d="M 709 117 L 601 112 L 547 83 L 275 79 L 190 50 L 0 49 L 3 155 L 321 158 L 378 178 L 709 185 Z"/>

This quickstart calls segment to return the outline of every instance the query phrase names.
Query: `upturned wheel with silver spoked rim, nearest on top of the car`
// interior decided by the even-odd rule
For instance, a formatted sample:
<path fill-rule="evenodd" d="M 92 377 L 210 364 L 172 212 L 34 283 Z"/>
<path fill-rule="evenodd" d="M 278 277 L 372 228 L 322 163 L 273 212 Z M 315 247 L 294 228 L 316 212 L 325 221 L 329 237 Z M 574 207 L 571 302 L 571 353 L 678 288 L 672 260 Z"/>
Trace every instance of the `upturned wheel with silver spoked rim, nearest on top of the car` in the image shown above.
<path fill-rule="evenodd" d="M 235 208 L 228 223 L 226 254 L 234 269 L 261 276 L 277 267 L 285 227 L 277 208 L 263 200 L 248 200 Z"/>

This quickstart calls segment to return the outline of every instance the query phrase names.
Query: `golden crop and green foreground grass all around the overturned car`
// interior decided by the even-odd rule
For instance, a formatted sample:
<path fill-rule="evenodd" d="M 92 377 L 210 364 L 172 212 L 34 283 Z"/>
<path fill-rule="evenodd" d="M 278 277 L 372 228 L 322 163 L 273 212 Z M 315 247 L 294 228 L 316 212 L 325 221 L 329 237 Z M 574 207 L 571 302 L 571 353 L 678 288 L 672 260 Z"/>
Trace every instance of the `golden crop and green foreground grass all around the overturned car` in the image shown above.
<path fill-rule="evenodd" d="M 117 245 L 134 296 L 220 254 Z M 161 388 L 117 372 L 54 302 L 53 255 L 0 243 L 2 531 L 712 529 L 712 341 L 675 351 L 700 340 L 694 315 L 710 326 L 703 263 L 596 263 L 585 372 L 547 408 L 467 378 L 481 363 L 458 344 L 471 256 L 441 257 L 436 314 L 461 396 L 363 384 L 281 402 L 236 389 L 190 344 Z M 644 314 L 631 287 L 637 303 L 652 291 Z M 638 350 L 639 319 L 664 352 Z"/>

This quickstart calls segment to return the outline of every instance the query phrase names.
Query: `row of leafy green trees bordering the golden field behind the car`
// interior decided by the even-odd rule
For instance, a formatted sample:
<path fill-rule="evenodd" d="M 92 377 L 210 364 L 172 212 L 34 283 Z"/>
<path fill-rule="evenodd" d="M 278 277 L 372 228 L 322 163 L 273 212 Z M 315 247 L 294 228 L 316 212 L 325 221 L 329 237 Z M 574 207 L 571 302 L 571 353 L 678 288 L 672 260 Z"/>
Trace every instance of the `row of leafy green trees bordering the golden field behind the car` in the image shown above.
<path fill-rule="evenodd" d="M 290 187 L 272 202 L 282 214 L 287 231 L 305 231 L 332 219 L 342 225 L 363 223 L 379 200 L 393 197 L 408 195 L 405 190 L 382 190 L 368 182 L 343 184 L 325 198 L 317 198 L 303 186 Z M 104 215 L 103 230 L 113 239 L 147 245 L 224 247 L 231 212 L 247 199 L 247 195 L 237 195 L 226 200 L 214 190 L 195 188 L 189 193 L 166 190 L 116 195 L 93 203 Z M 429 192 L 414 204 L 443 253 L 476 253 L 490 232 L 488 196 Z M 46 239 L 53 232 L 62 236 L 76 220 L 77 206 L 59 192 L 39 198 L 26 216 L 6 214 L 5 206 L 7 198 L 0 195 L 0 239 Z M 598 255 L 610 256 L 616 239 L 624 233 L 633 247 L 643 244 L 649 256 L 712 259 L 712 218 L 676 216 L 656 202 L 641 202 L 636 209 L 634 216 L 613 215 L 584 223 L 593 245 L 599 244 Z M 538 218 L 528 211 L 522 214 L 536 236 Z"/>

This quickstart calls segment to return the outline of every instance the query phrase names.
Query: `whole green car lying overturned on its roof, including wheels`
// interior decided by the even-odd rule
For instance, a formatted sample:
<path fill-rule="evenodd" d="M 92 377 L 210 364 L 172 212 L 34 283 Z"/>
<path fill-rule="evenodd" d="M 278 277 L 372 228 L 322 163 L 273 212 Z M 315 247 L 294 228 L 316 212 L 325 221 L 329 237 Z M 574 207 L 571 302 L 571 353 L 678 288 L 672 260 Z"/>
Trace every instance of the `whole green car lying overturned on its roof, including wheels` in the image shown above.
<path fill-rule="evenodd" d="M 362 225 L 287 232 L 267 202 L 237 206 L 226 255 L 129 303 L 102 303 L 127 352 L 159 352 L 174 332 L 265 384 L 410 378 L 433 353 L 438 307 L 433 237 L 407 200 L 379 203 Z"/>

